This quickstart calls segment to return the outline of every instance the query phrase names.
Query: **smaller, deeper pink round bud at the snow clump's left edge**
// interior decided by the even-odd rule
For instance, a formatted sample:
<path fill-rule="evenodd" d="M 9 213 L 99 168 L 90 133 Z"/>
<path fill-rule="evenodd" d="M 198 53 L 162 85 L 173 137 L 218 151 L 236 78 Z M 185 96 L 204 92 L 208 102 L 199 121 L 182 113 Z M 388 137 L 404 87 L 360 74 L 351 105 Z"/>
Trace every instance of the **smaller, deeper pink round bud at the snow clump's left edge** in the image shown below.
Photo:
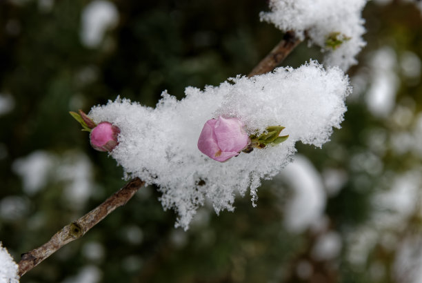
<path fill-rule="evenodd" d="M 91 146 L 99 151 L 112 151 L 119 142 L 117 135 L 120 129 L 112 125 L 110 122 L 104 121 L 92 129 L 90 133 Z"/>

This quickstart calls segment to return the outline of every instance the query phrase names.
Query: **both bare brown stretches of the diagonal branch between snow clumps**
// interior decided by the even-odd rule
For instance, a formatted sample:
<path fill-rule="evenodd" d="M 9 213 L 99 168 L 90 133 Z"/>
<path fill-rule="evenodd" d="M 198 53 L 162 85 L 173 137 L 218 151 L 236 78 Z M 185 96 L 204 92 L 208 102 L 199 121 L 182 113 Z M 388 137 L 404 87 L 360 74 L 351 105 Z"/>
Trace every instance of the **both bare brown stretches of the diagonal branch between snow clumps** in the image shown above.
<path fill-rule="evenodd" d="M 301 40 L 294 35 L 294 32 L 286 32 L 283 40 L 271 50 L 267 57 L 259 62 L 248 77 L 262 75 L 274 70 L 300 42 Z M 145 182 L 139 178 L 132 179 L 123 188 L 106 199 L 105 202 L 97 206 L 97 208 L 94 208 L 86 215 L 61 228 L 46 244 L 28 253 L 23 253 L 21 255 L 21 261 L 18 264 L 19 276 L 24 275 L 40 262 L 46 260 L 47 257 L 58 251 L 62 246 L 85 235 L 90 228 L 97 225 L 102 219 L 112 213 L 114 209 L 125 205 L 144 184 Z"/>

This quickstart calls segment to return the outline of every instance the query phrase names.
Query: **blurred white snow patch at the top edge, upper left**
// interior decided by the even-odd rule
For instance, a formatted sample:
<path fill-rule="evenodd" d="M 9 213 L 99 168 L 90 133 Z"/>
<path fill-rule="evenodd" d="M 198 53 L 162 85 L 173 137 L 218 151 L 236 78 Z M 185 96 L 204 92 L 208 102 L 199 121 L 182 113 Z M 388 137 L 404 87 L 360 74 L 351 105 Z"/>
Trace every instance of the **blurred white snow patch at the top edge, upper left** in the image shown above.
<path fill-rule="evenodd" d="M 81 41 L 90 48 L 96 48 L 104 34 L 117 24 L 119 12 L 110 1 L 95 0 L 90 2 L 81 15 Z"/>

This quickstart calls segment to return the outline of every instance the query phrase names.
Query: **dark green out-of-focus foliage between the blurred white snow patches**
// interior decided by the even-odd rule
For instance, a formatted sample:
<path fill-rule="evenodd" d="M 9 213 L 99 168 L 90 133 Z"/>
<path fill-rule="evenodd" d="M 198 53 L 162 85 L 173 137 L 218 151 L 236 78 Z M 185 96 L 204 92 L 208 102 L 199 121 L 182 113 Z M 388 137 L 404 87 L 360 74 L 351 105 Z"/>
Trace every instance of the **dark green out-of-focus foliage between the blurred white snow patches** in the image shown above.
<path fill-rule="evenodd" d="M 248 74 L 283 36 L 259 21 L 259 12 L 268 10 L 263 0 L 116 0 L 117 26 L 108 30 L 98 48 L 87 48 L 80 31 L 81 11 L 89 2 L 0 1 L 0 93 L 10 94 L 14 101 L 13 110 L 0 116 L 0 149 L 6 152 L 0 158 L 0 199 L 19 197 L 24 204 L 16 217 L 5 217 L 6 206 L 0 205 L 0 240 L 16 260 L 125 184 L 121 168 L 90 148 L 88 134 L 80 131 L 68 111 L 88 112 L 117 95 L 154 106 L 163 90 L 180 99 L 186 86 L 203 88 Z M 410 50 L 422 57 L 421 13 L 411 4 L 396 2 L 368 3 L 363 12 L 368 46 L 359 57 L 360 65 L 350 70 L 351 76 L 365 65 L 371 51 L 385 45 L 398 55 Z M 302 43 L 283 66 L 297 67 L 310 58 L 320 59 L 321 53 Z M 419 81 L 403 83 L 396 104 L 410 97 L 419 111 L 421 94 Z M 97 266 L 100 282 L 395 282 L 390 272 L 394 252 L 374 248 L 364 269 L 356 269 L 346 254 L 350 231 L 370 219 L 370 197 L 385 177 L 353 170 L 350 160 L 371 150 L 370 130 L 394 135 L 397 128 L 389 119 L 374 117 L 363 97 L 348 102 L 342 127 L 322 149 L 298 145 L 299 153 L 319 172 L 331 167 L 348 174 L 341 191 L 328 198 L 325 211 L 330 228 L 343 239 L 334 264 L 312 262 L 311 231 L 286 230 L 283 207 L 292 192 L 283 184 L 265 182 L 257 208 L 252 208 L 249 197 L 237 199 L 234 213 L 217 216 L 212 208 L 201 208 L 202 221 L 194 222 L 187 232 L 174 228 L 176 215 L 163 211 L 160 194 L 148 187 L 21 282 L 63 282 L 84 266 Z M 24 191 L 13 164 L 36 150 L 57 156 L 88 155 L 94 166 L 88 201 L 81 206 L 69 203 L 63 197 L 66 182 L 54 177 L 41 191 Z M 382 162 L 387 174 L 405 171 L 421 160 L 388 149 Z M 418 219 L 412 219 L 410 227 L 420 229 Z M 102 252 L 90 255 L 95 244 L 102 246 Z M 304 259 L 312 262 L 322 281 L 297 275 Z M 386 266 L 378 280 L 368 273 L 372 259 Z"/>

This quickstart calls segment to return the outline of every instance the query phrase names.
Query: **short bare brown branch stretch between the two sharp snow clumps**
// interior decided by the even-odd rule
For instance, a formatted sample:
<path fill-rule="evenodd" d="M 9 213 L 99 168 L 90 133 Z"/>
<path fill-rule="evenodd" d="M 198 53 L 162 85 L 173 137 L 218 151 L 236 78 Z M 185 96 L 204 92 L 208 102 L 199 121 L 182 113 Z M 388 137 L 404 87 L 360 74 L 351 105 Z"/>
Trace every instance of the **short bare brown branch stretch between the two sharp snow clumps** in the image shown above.
<path fill-rule="evenodd" d="M 259 64 L 249 73 L 248 77 L 265 74 L 265 72 L 271 72 L 281 64 L 281 62 L 287 57 L 290 52 L 301 43 L 301 39 L 296 37 L 294 32 L 286 32 L 283 40 L 275 46 L 271 52 Z"/>

